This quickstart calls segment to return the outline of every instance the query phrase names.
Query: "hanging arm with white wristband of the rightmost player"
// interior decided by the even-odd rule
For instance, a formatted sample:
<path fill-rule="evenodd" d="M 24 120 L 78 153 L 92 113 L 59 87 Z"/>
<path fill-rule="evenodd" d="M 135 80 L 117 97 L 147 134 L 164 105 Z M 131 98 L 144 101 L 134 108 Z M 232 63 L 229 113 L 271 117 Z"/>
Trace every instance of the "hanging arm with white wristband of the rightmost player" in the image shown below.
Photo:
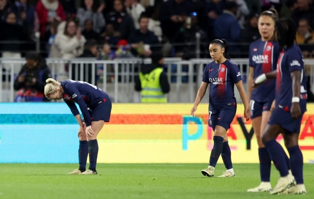
<path fill-rule="evenodd" d="M 292 106 L 291 115 L 292 118 L 298 118 L 301 116 L 300 108 L 300 90 L 301 90 L 301 71 L 292 71 L 290 73 L 292 79 Z"/>

